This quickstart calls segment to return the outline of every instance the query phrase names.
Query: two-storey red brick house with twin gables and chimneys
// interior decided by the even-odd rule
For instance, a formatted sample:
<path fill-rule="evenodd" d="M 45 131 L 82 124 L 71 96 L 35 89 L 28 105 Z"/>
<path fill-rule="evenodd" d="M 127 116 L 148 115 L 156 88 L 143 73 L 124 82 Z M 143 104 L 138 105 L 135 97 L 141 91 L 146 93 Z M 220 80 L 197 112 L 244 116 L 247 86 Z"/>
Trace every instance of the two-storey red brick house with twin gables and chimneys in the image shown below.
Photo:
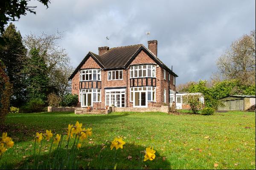
<path fill-rule="evenodd" d="M 175 101 L 178 76 L 157 58 L 157 40 L 148 41 L 148 49 L 143 44 L 98 49 L 99 55 L 88 52 L 70 75 L 77 107 L 145 108 Z"/>

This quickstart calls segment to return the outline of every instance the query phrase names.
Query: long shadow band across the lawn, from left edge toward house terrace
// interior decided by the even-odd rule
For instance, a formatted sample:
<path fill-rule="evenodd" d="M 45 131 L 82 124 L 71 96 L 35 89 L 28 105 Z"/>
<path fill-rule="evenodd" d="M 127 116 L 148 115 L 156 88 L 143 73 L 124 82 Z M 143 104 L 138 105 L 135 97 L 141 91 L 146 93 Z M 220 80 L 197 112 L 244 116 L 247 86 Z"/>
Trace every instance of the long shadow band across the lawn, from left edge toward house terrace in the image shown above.
<path fill-rule="evenodd" d="M 61 114 L 60 114 L 61 113 Z M 1 132 L 8 132 L 8 135 L 12 137 L 14 141 L 29 141 L 32 140 L 36 132 L 44 133 L 46 129 L 52 130 L 52 133 L 60 133 L 63 128 L 67 127 L 68 124 L 75 124 L 76 121 L 80 123 L 91 125 L 91 124 L 102 124 L 111 121 L 112 119 L 118 119 L 129 115 L 124 114 L 110 114 L 110 115 L 85 115 L 77 116 L 74 113 L 67 112 L 63 116 L 63 112 L 52 113 L 38 113 L 29 115 L 18 116 L 18 120 L 15 123 L 3 124 L 0 129 Z M 22 120 L 25 119 L 25 120 Z"/>

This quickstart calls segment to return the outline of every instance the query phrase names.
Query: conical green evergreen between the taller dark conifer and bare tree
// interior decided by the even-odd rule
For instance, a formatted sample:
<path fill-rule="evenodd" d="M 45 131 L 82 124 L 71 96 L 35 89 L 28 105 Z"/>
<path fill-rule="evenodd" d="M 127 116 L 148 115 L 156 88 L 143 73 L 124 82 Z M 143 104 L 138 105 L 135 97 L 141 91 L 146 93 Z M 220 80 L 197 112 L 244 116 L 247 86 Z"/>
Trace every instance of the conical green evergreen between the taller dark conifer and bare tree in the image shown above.
<path fill-rule="evenodd" d="M 26 86 L 29 100 L 33 98 L 47 100 L 49 77 L 44 58 L 39 55 L 39 49 L 31 49 L 28 65 L 24 69 L 26 73 Z"/>

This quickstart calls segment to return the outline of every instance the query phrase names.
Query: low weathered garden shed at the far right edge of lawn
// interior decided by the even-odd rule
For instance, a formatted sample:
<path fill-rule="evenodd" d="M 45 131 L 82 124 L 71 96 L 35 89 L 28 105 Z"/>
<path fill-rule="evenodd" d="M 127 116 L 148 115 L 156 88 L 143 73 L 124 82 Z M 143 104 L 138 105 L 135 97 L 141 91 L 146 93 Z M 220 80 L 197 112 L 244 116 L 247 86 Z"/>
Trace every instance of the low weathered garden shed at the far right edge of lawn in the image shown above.
<path fill-rule="evenodd" d="M 218 110 L 246 110 L 255 104 L 255 95 L 228 95 L 220 101 L 224 106 L 219 106 Z"/>

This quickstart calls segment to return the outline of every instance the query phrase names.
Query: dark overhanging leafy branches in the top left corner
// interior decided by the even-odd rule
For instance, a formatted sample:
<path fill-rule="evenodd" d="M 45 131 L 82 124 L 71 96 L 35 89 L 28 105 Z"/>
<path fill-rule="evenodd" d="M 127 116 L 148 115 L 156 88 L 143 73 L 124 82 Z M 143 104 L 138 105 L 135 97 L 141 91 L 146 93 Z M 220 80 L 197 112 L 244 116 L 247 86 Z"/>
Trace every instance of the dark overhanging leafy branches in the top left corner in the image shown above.
<path fill-rule="evenodd" d="M 0 1 L 0 32 L 4 32 L 4 26 L 8 21 L 17 21 L 20 15 L 26 15 L 26 11 L 35 13 L 36 6 L 28 6 L 30 0 L 1 0 Z M 38 0 L 48 8 L 50 0 Z"/>

